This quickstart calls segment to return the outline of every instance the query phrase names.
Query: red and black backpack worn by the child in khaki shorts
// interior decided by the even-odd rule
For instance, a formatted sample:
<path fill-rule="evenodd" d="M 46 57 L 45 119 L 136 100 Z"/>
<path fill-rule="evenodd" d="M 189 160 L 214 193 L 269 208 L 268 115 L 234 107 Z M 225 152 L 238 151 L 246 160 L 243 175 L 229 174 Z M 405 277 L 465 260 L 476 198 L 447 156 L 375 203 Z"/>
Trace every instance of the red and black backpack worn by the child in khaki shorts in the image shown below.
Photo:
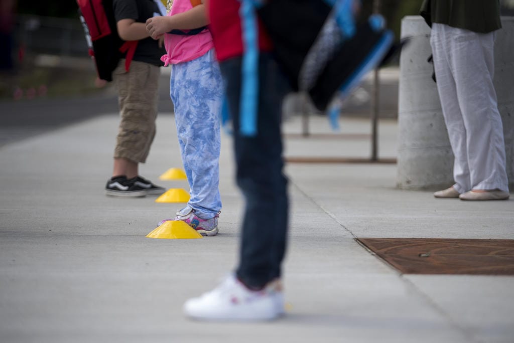
<path fill-rule="evenodd" d="M 113 71 L 123 55 L 128 71 L 138 41 L 123 41 L 118 35 L 112 0 L 77 0 L 81 21 L 101 80 L 113 81 Z"/>

